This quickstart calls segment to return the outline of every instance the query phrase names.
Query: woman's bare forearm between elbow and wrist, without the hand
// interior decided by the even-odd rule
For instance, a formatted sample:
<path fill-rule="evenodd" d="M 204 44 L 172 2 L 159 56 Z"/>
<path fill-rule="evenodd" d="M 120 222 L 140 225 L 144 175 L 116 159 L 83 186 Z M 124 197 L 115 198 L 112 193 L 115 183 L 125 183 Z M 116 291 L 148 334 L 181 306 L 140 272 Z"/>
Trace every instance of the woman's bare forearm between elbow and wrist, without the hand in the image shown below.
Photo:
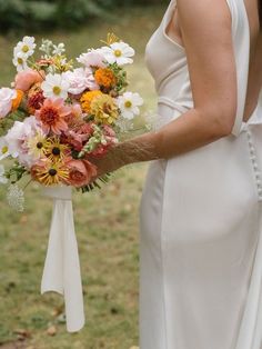
<path fill-rule="evenodd" d="M 191 109 L 157 132 L 119 144 L 114 150 L 115 157 L 120 159 L 120 166 L 168 159 L 213 142 L 229 134 L 230 130 L 231 124 L 221 124 L 219 118 L 204 118 L 201 112 Z"/>

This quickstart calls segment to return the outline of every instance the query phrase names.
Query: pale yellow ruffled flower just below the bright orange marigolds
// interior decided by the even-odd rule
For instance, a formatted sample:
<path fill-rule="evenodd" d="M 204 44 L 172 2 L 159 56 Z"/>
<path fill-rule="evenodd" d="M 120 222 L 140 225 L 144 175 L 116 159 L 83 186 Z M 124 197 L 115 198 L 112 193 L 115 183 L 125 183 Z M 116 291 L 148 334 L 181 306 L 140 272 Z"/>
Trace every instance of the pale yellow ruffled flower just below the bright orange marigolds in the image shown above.
<path fill-rule="evenodd" d="M 112 124 L 119 117 L 119 109 L 114 100 L 104 93 L 92 100 L 90 109 L 91 114 L 94 116 L 94 120 L 98 122 Z"/>

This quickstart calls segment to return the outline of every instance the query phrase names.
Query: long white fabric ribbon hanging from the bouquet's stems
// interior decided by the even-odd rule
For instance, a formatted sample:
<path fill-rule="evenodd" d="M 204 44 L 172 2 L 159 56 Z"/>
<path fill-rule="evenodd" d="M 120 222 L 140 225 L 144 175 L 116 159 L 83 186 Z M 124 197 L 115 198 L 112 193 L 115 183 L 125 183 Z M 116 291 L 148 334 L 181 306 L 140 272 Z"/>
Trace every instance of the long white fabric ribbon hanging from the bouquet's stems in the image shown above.
<path fill-rule="evenodd" d="M 67 329 L 77 332 L 84 326 L 84 310 L 72 189 L 47 187 L 43 195 L 53 199 L 53 213 L 41 293 L 56 291 L 64 296 Z"/>

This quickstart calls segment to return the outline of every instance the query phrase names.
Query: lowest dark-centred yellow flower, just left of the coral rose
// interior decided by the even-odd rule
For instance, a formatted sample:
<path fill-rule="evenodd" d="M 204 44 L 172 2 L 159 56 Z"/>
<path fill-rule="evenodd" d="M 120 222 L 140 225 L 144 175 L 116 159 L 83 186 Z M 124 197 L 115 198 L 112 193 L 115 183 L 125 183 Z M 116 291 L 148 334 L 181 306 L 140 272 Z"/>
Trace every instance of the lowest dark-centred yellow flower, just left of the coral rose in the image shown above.
<path fill-rule="evenodd" d="M 67 183 L 69 169 L 63 162 L 40 161 L 31 168 L 31 176 L 43 186 Z"/>

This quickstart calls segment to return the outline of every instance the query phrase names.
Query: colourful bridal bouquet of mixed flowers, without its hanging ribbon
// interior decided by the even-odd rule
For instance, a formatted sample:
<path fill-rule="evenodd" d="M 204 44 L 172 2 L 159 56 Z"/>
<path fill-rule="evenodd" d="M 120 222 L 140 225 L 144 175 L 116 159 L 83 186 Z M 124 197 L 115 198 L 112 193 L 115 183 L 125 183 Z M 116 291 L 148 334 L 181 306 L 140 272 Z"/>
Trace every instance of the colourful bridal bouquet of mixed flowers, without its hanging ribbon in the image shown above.
<path fill-rule="evenodd" d="M 34 38 L 24 37 L 13 49 L 18 73 L 12 88 L 0 89 L 0 161 L 11 160 L 0 166 L 0 182 L 11 183 L 8 198 L 18 210 L 17 182 L 26 176 L 47 187 L 99 187 L 90 185 L 97 173 L 90 157 L 103 156 L 132 128 L 143 103 L 127 91 L 124 66 L 134 50 L 113 34 L 103 43 L 80 54 L 77 68 L 63 43 L 42 40 L 34 57 Z"/>

